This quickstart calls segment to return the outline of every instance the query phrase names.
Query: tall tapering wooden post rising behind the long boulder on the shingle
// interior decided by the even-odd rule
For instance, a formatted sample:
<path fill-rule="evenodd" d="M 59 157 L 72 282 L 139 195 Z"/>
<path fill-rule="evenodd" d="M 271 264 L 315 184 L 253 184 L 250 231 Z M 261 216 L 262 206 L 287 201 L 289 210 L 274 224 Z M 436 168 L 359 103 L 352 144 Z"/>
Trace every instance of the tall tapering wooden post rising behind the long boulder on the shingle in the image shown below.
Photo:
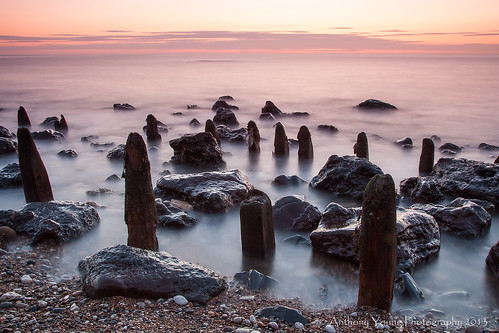
<path fill-rule="evenodd" d="M 158 215 L 151 182 L 151 166 L 147 148 L 138 133 L 130 133 L 125 146 L 125 223 L 128 245 L 158 250 L 156 225 Z"/>

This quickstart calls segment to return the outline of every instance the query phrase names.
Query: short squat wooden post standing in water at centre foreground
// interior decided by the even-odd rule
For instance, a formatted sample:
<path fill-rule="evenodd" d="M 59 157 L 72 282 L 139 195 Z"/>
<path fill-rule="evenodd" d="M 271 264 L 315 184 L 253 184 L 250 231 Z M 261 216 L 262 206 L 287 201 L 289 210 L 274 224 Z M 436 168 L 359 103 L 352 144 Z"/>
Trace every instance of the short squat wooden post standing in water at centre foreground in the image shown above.
<path fill-rule="evenodd" d="M 241 244 L 243 255 L 264 258 L 275 249 L 274 216 L 270 198 L 250 190 L 241 202 Z"/>

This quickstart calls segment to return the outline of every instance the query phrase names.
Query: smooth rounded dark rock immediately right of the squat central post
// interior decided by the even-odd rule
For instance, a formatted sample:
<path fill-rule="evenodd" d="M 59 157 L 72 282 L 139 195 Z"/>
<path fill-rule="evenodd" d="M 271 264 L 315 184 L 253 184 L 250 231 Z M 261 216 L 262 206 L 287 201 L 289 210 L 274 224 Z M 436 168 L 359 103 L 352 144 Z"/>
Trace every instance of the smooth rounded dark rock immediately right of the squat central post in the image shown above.
<path fill-rule="evenodd" d="M 297 196 L 280 198 L 275 202 L 273 211 L 275 228 L 293 231 L 316 229 L 322 215 L 317 207 Z"/>

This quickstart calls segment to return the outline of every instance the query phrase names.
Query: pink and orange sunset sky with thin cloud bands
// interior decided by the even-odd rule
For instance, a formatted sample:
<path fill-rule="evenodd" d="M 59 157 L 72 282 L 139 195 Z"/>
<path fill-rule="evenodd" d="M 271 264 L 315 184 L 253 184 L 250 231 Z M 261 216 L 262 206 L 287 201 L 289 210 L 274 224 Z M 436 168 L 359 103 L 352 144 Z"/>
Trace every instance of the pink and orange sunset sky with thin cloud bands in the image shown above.
<path fill-rule="evenodd" d="M 0 0 L 0 55 L 499 55 L 498 0 Z"/>

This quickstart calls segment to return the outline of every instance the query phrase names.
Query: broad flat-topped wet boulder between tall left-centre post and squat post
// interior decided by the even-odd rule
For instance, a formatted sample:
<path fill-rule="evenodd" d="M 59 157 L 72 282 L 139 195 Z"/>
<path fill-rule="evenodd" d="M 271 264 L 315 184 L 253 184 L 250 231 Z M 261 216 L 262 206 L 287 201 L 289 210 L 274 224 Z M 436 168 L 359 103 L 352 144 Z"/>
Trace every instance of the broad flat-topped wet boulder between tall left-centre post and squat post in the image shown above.
<path fill-rule="evenodd" d="M 172 174 L 160 178 L 157 198 L 187 201 L 207 212 L 224 212 L 243 201 L 253 185 L 239 170 Z"/>

